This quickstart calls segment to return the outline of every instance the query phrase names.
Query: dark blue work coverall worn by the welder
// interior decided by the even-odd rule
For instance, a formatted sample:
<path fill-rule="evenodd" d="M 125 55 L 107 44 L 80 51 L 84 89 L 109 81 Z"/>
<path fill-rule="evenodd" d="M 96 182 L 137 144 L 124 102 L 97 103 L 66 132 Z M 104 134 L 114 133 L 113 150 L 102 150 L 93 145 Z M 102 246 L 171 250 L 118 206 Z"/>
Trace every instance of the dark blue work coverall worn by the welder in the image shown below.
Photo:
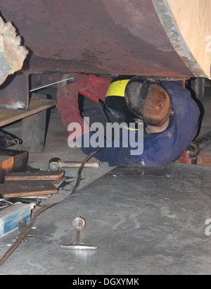
<path fill-rule="evenodd" d="M 128 147 L 106 147 L 94 155 L 96 159 L 108 162 L 109 166 L 161 166 L 175 161 L 191 144 L 198 133 L 200 116 L 198 104 L 192 99 L 189 90 L 181 87 L 181 82 L 161 81 L 161 84 L 169 92 L 175 110 L 172 126 L 156 135 L 145 133 L 143 153 L 140 155 L 132 156 L 130 154 L 132 148 L 128 145 Z M 93 133 L 91 132 L 89 137 Z M 85 154 L 90 154 L 94 150 L 96 148 L 82 147 Z"/>

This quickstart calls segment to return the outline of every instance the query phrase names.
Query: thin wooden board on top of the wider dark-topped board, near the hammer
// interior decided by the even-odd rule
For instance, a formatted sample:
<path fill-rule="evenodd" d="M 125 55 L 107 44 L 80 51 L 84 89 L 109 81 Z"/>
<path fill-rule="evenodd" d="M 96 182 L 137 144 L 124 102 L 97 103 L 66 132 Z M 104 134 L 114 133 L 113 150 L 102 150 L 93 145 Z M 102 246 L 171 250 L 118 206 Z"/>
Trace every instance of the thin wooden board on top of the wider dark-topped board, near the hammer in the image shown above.
<path fill-rule="evenodd" d="M 5 181 L 8 180 L 59 180 L 63 178 L 64 171 L 27 171 L 24 173 L 10 173 L 5 176 Z"/>

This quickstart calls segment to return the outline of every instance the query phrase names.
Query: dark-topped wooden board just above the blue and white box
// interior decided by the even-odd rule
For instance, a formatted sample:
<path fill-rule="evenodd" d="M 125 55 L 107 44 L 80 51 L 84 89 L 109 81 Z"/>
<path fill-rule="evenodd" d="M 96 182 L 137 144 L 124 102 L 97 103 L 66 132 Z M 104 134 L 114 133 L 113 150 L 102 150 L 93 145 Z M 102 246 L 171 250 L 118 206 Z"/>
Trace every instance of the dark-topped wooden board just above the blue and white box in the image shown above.
<path fill-rule="evenodd" d="M 0 185 L 2 197 L 31 197 L 37 195 L 57 194 L 58 190 L 51 180 L 12 180 Z"/>

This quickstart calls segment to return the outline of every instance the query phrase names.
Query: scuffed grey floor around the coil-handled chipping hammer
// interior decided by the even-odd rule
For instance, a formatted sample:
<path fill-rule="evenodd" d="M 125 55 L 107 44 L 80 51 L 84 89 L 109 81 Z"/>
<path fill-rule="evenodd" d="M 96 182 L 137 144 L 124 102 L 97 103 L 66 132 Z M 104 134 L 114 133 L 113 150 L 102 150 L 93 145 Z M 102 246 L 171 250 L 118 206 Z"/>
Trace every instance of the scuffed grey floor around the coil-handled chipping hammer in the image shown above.
<path fill-rule="evenodd" d="M 211 98 L 203 99 L 203 132 L 209 130 Z M 18 134 L 20 123 L 8 130 Z M 80 149 L 68 147 L 68 132 L 60 114 L 51 109 L 46 146 L 29 155 L 29 166 L 46 171 L 49 159 L 83 161 Z M 92 161 L 94 158 L 92 159 Z M 210 173 L 207 166 L 170 164 L 160 168 L 84 168 L 76 195 L 77 169 L 66 169 L 69 179 L 57 202 L 39 215 L 30 233 L 0 267 L 1 274 L 18 275 L 144 275 L 210 274 Z M 39 208 L 38 208 L 39 209 Z M 82 216 L 82 243 L 93 251 L 72 251 L 60 245 L 76 241 L 72 221 Z M 207 221 L 208 220 L 208 221 Z M 207 222 L 207 223 L 206 223 Z M 0 239 L 0 257 L 13 244 L 17 231 Z"/>

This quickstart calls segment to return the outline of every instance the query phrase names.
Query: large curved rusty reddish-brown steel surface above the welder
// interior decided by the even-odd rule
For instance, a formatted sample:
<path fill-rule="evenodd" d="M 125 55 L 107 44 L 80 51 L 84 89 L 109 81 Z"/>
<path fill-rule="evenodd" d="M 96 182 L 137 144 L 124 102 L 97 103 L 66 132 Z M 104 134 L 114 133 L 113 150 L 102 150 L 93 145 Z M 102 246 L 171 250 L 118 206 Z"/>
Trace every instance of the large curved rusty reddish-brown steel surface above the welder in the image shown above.
<path fill-rule="evenodd" d="M 152 0 L 1 0 L 1 16 L 30 50 L 27 73 L 193 76 Z"/>

